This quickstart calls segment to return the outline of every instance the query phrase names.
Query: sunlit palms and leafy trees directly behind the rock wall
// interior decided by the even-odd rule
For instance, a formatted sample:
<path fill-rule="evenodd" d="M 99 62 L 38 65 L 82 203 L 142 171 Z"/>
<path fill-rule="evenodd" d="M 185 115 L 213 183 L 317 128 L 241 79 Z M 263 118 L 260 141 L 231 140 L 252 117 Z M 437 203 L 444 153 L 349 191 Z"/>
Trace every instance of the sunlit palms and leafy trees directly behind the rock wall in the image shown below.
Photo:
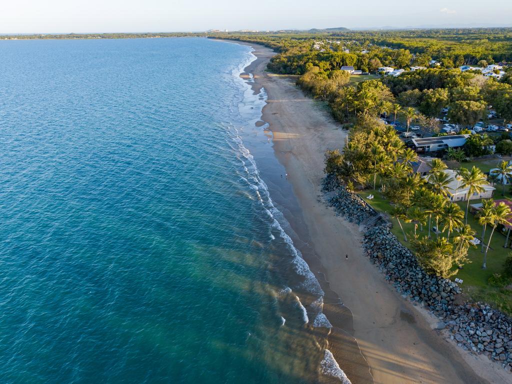
<path fill-rule="evenodd" d="M 416 159 L 417 154 L 404 146 L 394 129 L 373 116 L 360 115 L 343 153 L 327 154 L 326 172 L 337 175 L 348 188 L 362 190 L 363 197 L 373 195 L 369 203 L 389 215 L 395 235 L 426 270 L 446 278 L 459 273 L 466 292 L 512 313 L 512 295 L 496 285 L 496 279 L 512 284 L 504 265 L 506 236 L 500 231 L 512 212 L 503 203 L 482 200 L 482 210 L 472 215 L 470 200 L 450 201 L 447 185 L 452 180 L 443 172 L 446 164 L 434 159 L 429 175 L 422 178 L 412 173 Z M 476 165 L 480 164 L 463 163 L 455 169 L 460 188 L 469 188 L 466 199 L 492 183 Z M 491 167 L 501 169 L 501 175 L 512 172 L 506 161 L 494 160 L 484 170 Z M 478 247 L 471 243 L 474 237 L 481 240 Z"/>

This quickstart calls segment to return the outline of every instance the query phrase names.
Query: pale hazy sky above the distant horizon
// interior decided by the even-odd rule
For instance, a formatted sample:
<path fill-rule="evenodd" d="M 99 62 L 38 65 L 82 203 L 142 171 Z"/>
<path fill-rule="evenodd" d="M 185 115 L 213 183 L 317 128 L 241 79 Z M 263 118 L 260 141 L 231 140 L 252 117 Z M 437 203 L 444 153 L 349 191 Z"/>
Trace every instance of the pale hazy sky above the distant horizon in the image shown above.
<path fill-rule="evenodd" d="M 3 1 L 0 33 L 174 32 L 382 26 L 512 26 L 512 1 Z"/>

